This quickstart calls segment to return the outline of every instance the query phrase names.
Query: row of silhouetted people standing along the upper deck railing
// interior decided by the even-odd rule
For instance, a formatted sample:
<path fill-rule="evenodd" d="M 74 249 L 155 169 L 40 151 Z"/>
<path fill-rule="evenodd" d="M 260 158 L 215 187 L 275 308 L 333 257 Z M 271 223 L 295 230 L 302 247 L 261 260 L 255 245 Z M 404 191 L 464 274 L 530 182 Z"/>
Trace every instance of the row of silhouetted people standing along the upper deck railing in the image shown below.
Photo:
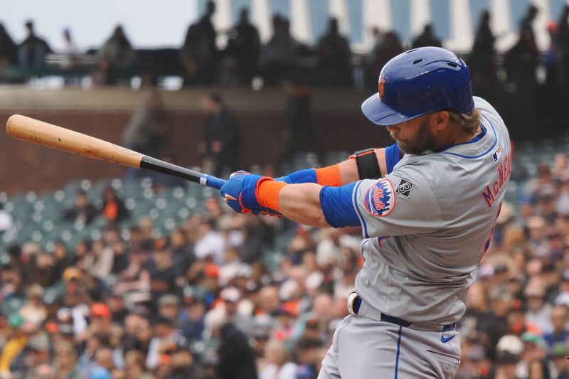
<path fill-rule="evenodd" d="M 474 88 L 489 90 L 497 80 L 504 82 L 506 90 L 523 92 L 540 82 L 563 86 L 568 77 L 569 64 L 569 6 L 565 6 L 557 21 L 547 24 L 550 43 L 540 51 L 536 43 L 533 21 L 539 9 L 528 6 L 526 15 L 519 24 L 516 43 L 504 53 L 496 53 L 495 43 L 504 35 L 491 31 L 491 14 L 482 11 L 476 26 L 474 43 L 469 52 L 458 52 L 467 60 L 472 70 Z M 75 73 L 85 65 L 85 56 L 92 58 L 88 74 L 95 84 L 113 85 L 127 83 L 133 75 L 144 82 L 156 84 L 156 75 L 181 75 L 184 85 L 240 85 L 250 87 L 254 78 L 262 85 L 279 85 L 282 80 L 302 77 L 313 85 L 349 87 L 377 86 L 377 75 L 383 65 L 398 53 L 420 46 L 442 46 L 431 24 L 409 43 L 400 40 L 395 31 L 385 30 L 381 25 L 371 29 L 373 47 L 354 59 L 349 40 L 339 31 L 338 21 L 329 19 L 327 30 L 317 38 L 314 46 L 307 46 L 290 33 L 287 18 L 275 15 L 272 18 L 273 35 L 267 43 L 260 41 L 257 27 L 249 20 L 248 9 L 243 8 L 233 28 L 218 31 L 212 18 L 216 3 L 208 1 L 206 11 L 188 26 L 181 46 L 171 55 L 167 49 L 158 49 L 156 56 L 148 50 L 135 49 L 121 25 L 117 25 L 110 37 L 97 48 L 82 51 L 73 41 L 69 28 L 63 31 L 65 48 L 54 52 L 49 43 L 38 36 L 33 21 L 26 22 L 28 36 L 16 43 L 0 24 L 0 78 L 9 68 L 30 70 L 29 75 L 38 75 L 46 67 L 46 57 L 56 53 L 55 62 L 60 73 L 65 70 Z M 218 36 L 224 35 L 223 48 L 218 45 Z M 354 65 L 357 63 L 358 67 Z M 158 68 L 157 66 L 161 66 Z M 543 68 L 545 73 L 538 73 Z M 4 78 L 4 80 L 10 80 Z M 256 86 L 260 83 L 255 82 Z"/>

